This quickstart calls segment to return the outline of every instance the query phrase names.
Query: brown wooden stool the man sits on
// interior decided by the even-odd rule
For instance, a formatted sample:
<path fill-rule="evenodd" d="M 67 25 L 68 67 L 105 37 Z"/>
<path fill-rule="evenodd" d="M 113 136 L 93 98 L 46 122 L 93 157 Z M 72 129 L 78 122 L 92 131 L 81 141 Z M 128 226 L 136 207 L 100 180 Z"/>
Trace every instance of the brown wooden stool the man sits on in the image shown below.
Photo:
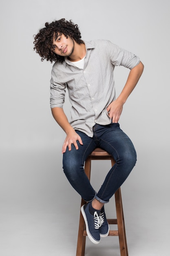
<path fill-rule="evenodd" d="M 91 176 L 91 160 L 111 160 L 112 166 L 115 164 L 115 160 L 113 157 L 108 154 L 105 150 L 101 148 L 96 148 L 86 159 L 84 171 L 90 180 Z M 82 199 L 82 205 L 86 204 L 86 201 Z M 109 236 L 119 236 L 119 245 L 120 245 L 120 255 L 128 256 L 128 247 L 126 242 L 126 232 L 125 232 L 125 224 L 124 224 L 124 213 L 123 206 L 121 200 L 121 190 L 120 188 L 115 192 L 115 204 L 116 204 L 116 214 L 117 219 L 107 219 L 108 224 L 117 224 L 117 230 L 110 230 Z M 84 256 L 85 252 L 85 244 L 86 244 L 86 225 L 84 222 L 84 218 L 80 211 L 79 218 L 79 231 L 78 231 L 78 239 L 77 239 L 77 253 L 76 256 Z M 107 239 L 107 238 L 105 238 Z"/>

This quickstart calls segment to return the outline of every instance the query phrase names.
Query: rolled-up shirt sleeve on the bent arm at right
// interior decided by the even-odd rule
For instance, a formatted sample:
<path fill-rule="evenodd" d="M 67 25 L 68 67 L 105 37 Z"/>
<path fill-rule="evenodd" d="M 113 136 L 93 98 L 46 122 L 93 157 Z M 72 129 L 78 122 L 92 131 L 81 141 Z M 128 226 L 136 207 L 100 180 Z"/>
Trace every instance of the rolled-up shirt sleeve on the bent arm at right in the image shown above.
<path fill-rule="evenodd" d="M 106 47 L 108 49 L 110 61 L 115 66 L 124 66 L 131 70 L 140 62 L 138 56 L 131 52 L 128 52 L 125 49 L 120 48 L 119 46 L 111 43 L 110 41 L 107 41 Z"/>

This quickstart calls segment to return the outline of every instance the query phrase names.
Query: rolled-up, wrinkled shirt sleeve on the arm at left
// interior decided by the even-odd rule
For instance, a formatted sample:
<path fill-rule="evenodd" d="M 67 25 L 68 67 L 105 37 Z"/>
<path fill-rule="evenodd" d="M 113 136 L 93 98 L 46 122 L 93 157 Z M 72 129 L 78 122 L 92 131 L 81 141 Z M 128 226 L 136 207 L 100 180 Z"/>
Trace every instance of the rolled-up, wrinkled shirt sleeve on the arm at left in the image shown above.
<path fill-rule="evenodd" d="M 60 82 L 60 79 L 57 78 L 57 74 L 54 70 L 51 72 L 50 83 L 50 107 L 63 108 L 66 93 L 66 83 Z"/>

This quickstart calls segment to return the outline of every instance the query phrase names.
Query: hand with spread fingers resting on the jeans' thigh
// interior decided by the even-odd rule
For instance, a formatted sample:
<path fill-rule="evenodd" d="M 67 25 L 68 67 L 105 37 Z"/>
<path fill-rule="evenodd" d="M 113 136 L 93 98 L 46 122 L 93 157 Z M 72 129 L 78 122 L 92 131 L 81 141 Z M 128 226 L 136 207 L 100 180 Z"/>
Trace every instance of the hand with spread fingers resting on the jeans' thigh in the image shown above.
<path fill-rule="evenodd" d="M 79 141 L 79 144 L 83 145 L 81 137 L 75 132 L 74 129 L 70 130 L 67 133 L 66 139 L 64 141 L 64 144 L 62 146 L 62 154 L 66 152 L 66 148 L 68 146 L 68 150 L 71 150 L 71 144 L 74 144 L 75 148 L 78 149 L 77 140 Z"/>

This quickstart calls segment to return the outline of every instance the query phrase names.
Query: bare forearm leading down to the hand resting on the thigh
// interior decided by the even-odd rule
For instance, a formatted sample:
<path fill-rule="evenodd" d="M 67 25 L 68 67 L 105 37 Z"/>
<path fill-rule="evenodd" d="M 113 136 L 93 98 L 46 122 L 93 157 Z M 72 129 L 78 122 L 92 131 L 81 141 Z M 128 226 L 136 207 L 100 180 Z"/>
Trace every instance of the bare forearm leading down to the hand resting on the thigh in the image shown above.
<path fill-rule="evenodd" d="M 64 132 L 66 132 L 66 134 L 68 134 L 68 132 L 70 132 L 71 130 L 74 130 L 69 124 L 68 119 L 62 108 L 52 108 L 51 112 L 57 124 L 60 125 L 60 127 L 64 130 Z"/>

